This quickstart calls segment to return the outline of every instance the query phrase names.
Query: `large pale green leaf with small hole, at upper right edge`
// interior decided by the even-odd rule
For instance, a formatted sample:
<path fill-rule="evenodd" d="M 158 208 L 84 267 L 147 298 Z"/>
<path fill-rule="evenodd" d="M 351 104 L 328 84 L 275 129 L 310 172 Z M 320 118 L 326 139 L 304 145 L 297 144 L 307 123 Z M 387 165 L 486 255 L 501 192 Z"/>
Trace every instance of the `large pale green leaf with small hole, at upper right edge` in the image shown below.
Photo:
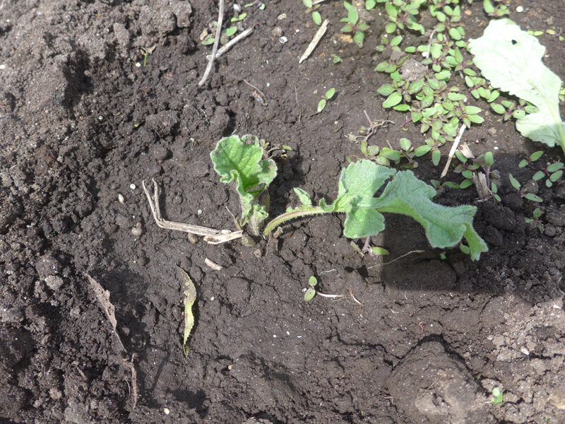
<path fill-rule="evenodd" d="M 473 61 L 494 88 L 533 103 L 538 112 L 516 121 L 528 139 L 565 153 L 565 124 L 559 116 L 561 79 L 542 63 L 545 47 L 509 19 L 492 20 L 482 37 L 469 42 Z"/>

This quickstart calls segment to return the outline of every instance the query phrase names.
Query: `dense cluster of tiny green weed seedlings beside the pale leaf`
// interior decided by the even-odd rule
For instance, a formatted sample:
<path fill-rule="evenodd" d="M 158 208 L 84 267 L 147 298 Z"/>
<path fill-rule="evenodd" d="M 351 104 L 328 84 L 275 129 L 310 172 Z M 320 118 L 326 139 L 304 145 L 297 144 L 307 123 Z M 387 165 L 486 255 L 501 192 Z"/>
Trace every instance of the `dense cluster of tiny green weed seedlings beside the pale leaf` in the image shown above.
<path fill-rule="evenodd" d="M 381 61 L 376 71 L 388 73 L 392 80 L 378 90 L 386 96 L 383 107 L 410 112 L 410 120 L 420 124 L 422 134 L 429 132 L 424 146 L 416 151 L 417 155 L 431 151 L 432 162 L 437 165 L 441 159 L 439 148 L 456 137 L 461 123 L 471 126 L 483 122 L 480 107 L 465 103 L 471 97 L 494 102 L 500 93 L 480 77 L 470 59 L 465 59 L 467 42 L 464 40 L 465 30 L 459 24 L 461 7 L 458 0 L 381 2 L 385 3 L 388 23 L 377 50 L 390 51 L 390 57 Z M 498 16 L 506 11 L 503 3 L 499 2 L 496 12 L 492 13 Z M 406 30 L 424 35 L 426 29 L 419 23 L 424 11 L 436 18 L 431 35 L 422 45 L 400 49 Z M 416 54 L 421 54 L 424 59 L 417 61 Z M 452 83 L 454 75 L 463 76 L 468 92 Z"/>

